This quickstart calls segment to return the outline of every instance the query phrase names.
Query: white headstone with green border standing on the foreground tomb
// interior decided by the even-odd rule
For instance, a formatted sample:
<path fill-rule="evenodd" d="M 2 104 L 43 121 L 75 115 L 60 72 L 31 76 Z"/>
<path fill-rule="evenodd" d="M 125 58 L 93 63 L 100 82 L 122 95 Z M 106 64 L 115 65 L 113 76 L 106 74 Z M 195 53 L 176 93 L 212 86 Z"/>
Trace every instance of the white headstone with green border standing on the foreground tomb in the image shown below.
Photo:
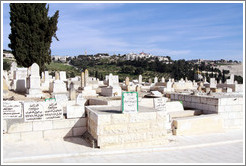
<path fill-rule="evenodd" d="M 138 93 L 122 92 L 121 110 L 123 113 L 138 112 Z"/>

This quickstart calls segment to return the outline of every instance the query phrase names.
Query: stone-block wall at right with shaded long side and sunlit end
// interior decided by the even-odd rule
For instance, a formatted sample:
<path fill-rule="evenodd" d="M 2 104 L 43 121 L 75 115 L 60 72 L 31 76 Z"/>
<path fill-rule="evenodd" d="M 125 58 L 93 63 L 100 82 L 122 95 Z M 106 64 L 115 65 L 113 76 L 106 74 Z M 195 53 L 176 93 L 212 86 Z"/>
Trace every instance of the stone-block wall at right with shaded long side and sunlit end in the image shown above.
<path fill-rule="evenodd" d="M 205 114 L 219 114 L 224 128 L 243 126 L 243 97 L 241 96 L 194 96 L 171 94 L 171 100 L 182 101 L 184 107 L 202 110 Z"/>

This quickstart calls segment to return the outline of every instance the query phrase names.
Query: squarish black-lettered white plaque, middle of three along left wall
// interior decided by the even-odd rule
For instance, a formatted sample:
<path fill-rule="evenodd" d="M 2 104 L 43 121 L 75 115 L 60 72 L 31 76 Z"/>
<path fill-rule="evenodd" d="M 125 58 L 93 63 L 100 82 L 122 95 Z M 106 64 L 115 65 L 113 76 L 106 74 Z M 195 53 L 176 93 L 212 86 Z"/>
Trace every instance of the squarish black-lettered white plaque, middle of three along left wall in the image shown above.
<path fill-rule="evenodd" d="M 24 103 L 24 120 L 26 122 L 44 120 L 44 107 L 41 102 Z"/>

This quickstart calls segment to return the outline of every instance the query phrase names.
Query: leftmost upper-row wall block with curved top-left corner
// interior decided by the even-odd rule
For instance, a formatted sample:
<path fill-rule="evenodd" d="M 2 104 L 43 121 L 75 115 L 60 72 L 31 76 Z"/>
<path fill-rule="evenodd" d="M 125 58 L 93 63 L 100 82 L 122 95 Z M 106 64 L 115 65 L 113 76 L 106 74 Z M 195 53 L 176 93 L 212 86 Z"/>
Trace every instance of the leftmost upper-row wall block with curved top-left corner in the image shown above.
<path fill-rule="evenodd" d="M 32 122 L 14 123 L 8 129 L 8 133 L 18 133 L 26 131 L 32 131 Z"/>

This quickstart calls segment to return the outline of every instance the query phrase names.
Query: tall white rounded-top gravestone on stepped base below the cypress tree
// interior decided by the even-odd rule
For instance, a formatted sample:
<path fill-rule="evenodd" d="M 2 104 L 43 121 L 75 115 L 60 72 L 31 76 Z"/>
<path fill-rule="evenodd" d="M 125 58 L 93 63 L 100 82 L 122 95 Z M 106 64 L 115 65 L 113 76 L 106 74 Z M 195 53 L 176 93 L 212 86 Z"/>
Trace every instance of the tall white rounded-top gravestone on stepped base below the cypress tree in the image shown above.
<path fill-rule="evenodd" d="M 43 96 L 40 88 L 40 76 L 39 76 L 39 66 L 33 63 L 30 67 L 30 75 L 27 77 L 27 97 L 37 97 Z"/>

